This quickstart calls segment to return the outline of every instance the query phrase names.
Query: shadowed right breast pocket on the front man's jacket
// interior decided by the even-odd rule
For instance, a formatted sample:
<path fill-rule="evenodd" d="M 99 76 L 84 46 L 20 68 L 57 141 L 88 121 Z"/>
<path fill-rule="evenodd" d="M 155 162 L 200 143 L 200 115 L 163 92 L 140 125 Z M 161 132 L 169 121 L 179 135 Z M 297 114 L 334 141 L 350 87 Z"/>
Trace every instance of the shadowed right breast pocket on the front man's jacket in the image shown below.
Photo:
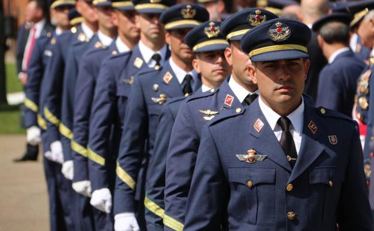
<path fill-rule="evenodd" d="M 342 182 L 343 173 L 336 166 L 318 167 L 309 171 L 312 222 L 323 224 L 324 221 L 335 219 Z"/>

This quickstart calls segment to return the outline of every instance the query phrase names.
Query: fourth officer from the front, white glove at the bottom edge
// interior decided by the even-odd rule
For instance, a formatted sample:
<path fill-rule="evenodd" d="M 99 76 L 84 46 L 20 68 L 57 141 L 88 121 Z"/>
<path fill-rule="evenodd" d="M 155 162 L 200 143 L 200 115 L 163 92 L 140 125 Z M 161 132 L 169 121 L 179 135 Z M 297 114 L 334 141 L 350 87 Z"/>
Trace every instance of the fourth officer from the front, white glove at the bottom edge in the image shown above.
<path fill-rule="evenodd" d="M 162 69 L 155 66 L 156 70 L 139 73 L 131 87 L 114 193 L 115 227 L 118 228 L 116 230 L 138 227 L 134 214 L 135 199 L 138 197 L 136 194 L 140 194 L 138 201 L 143 203 L 144 178 L 148 158 L 153 152 L 162 104 L 172 97 L 189 95 L 201 85 L 200 76 L 192 67 L 193 51 L 184 42 L 184 36 L 191 28 L 208 18 L 209 14 L 203 7 L 188 3 L 172 6 L 160 16 L 165 25 L 165 40 L 170 45 L 171 58 Z M 139 223 L 144 223 L 144 211 L 140 215 Z"/>

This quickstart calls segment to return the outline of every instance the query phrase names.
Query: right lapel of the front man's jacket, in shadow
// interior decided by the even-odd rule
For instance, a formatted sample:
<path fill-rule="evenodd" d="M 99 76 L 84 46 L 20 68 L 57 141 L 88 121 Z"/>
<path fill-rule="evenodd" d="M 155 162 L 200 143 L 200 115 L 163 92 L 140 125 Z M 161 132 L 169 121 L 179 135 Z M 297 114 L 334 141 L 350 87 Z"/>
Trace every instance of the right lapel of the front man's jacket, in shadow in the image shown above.
<path fill-rule="evenodd" d="M 300 176 L 300 174 L 302 174 L 324 150 L 321 143 L 317 141 L 318 137 L 324 133 L 322 125 L 319 123 L 320 116 L 318 115 L 316 108 L 310 106 L 305 100 L 304 105 L 304 124 L 301 147 L 297 156 L 296 164 L 292 170 L 291 176 L 289 177 L 289 182 Z M 313 133 L 313 129 L 310 128 L 312 124 L 316 127 L 316 130 L 314 130 L 315 133 Z"/>

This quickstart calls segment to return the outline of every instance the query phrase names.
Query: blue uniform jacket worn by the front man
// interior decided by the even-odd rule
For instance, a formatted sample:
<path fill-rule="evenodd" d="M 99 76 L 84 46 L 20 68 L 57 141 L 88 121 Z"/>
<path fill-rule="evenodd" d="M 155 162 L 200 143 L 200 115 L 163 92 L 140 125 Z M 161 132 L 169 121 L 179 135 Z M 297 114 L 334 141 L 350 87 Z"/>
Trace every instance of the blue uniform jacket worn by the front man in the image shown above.
<path fill-rule="evenodd" d="M 341 231 L 373 230 L 356 122 L 307 100 L 304 105 L 292 171 L 258 99 L 203 128 L 185 231 L 219 230 L 222 220 L 230 231 L 331 231 L 337 224 Z M 266 156 L 240 161 L 237 154 L 249 149 Z"/>

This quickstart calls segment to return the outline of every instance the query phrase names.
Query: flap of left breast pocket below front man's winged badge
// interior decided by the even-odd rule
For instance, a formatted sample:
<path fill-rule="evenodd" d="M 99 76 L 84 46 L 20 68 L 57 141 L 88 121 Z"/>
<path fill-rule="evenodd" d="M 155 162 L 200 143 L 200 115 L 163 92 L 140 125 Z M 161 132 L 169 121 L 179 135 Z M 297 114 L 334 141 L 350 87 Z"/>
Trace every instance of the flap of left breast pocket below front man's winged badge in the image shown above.
<path fill-rule="evenodd" d="M 229 168 L 229 181 L 247 185 L 275 183 L 275 168 Z"/>

